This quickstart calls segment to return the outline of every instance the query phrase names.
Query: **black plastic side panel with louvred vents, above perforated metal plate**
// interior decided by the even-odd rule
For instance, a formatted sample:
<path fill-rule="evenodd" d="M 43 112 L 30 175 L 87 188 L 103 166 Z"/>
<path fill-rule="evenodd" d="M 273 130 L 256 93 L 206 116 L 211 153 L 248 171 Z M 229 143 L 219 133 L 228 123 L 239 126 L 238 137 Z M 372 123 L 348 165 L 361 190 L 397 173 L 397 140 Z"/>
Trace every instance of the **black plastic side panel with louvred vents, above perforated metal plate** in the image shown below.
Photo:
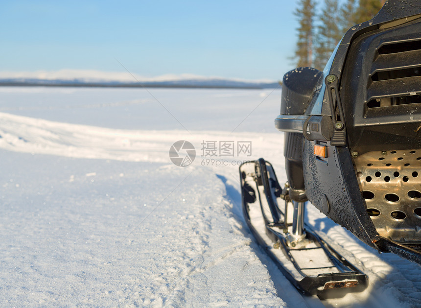
<path fill-rule="evenodd" d="M 352 152 L 421 147 L 420 18 L 356 37 L 343 72 L 341 97 Z"/>

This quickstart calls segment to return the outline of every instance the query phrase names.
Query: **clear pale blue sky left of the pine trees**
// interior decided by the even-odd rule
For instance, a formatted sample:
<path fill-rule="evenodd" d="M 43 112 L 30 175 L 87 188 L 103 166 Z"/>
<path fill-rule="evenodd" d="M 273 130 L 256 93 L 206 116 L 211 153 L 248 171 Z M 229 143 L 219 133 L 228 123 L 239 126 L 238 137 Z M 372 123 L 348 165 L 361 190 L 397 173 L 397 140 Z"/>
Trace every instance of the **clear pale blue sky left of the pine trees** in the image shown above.
<path fill-rule="evenodd" d="M 0 71 L 128 70 L 281 80 L 295 1 L 1 1 Z M 117 60 L 116 60 L 117 59 Z"/>

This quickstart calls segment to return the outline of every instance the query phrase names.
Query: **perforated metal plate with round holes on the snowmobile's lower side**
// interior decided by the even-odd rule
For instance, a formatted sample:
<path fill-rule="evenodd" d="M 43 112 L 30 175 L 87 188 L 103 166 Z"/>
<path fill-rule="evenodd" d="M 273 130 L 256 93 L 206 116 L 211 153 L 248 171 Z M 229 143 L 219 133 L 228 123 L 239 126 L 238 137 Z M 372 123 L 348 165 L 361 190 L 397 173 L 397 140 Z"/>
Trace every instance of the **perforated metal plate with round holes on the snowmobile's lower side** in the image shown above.
<path fill-rule="evenodd" d="M 378 234 L 398 242 L 420 241 L 421 150 L 373 151 L 353 160 Z"/>

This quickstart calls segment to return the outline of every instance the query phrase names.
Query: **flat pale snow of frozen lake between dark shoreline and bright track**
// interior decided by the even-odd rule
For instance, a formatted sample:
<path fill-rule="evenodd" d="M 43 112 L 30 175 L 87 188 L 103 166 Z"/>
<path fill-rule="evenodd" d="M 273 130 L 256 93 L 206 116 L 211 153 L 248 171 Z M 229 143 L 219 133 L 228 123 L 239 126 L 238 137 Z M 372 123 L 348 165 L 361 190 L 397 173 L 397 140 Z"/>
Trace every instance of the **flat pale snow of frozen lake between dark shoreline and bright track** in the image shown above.
<path fill-rule="evenodd" d="M 0 112 L 119 129 L 173 130 L 184 126 L 189 131 L 276 132 L 274 119 L 281 103 L 279 88 L 148 91 L 0 87 Z"/>

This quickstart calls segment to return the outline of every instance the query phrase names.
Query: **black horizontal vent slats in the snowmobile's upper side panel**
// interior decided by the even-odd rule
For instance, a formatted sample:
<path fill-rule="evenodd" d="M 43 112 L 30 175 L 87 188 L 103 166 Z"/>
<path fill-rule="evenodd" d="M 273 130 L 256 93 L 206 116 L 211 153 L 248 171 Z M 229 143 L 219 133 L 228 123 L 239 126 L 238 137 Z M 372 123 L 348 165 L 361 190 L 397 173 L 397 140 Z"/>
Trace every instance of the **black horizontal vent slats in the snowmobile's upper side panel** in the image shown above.
<path fill-rule="evenodd" d="M 421 39 L 383 44 L 370 71 L 366 110 L 421 103 Z"/>

